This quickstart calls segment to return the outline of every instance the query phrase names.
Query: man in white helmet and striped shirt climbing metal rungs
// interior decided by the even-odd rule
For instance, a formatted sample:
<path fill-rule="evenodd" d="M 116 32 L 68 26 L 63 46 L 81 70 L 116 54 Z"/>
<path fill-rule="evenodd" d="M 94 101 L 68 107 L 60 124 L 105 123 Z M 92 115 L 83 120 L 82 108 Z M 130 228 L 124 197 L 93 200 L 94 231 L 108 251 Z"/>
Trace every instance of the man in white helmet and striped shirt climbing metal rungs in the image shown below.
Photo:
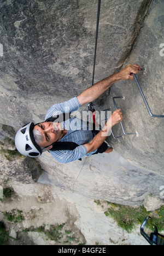
<path fill-rule="evenodd" d="M 123 115 L 120 109 L 117 109 L 112 113 L 106 125 L 97 133 L 97 135 L 93 135 L 93 132 L 90 129 L 80 129 L 81 120 L 80 124 L 77 124 L 75 118 L 70 118 L 62 123 L 55 123 L 53 117 L 60 113 L 65 113 L 66 109 L 69 109 L 68 112 L 73 112 L 80 106 L 96 100 L 96 98 L 102 95 L 103 92 L 109 89 L 116 81 L 133 79 L 132 73 L 137 74 L 139 70 L 140 67 L 138 65 L 127 65 L 120 72 L 114 73 L 113 75 L 110 75 L 110 77 L 101 80 L 81 92 L 77 97 L 63 103 L 55 104 L 48 110 L 43 123 L 36 125 L 34 125 L 34 123 L 29 123 L 17 131 L 15 136 L 15 146 L 17 150 L 22 155 L 30 156 L 32 158 L 36 158 L 44 151 L 49 150 L 51 155 L 58 162 L 62 163 L 78 160 L 85 155 L 112 152 L 113 149 L 108 147 L 104 141 L 112 127 L 123 120 Z M 74 121 L 76 122 L 74 125 L 78 127 L 77 130 L 67 129 L 70 125 L 70 121 L 72 124 L 74 124 Z M 85 125 L 87 126 L 88 124 Z M 61 142 L 65 142 L 65 144 L 66 142 L 67 144 L 74 143 L 76 146 L 67 150 L 63 150 L 63 148 L 54 149 L 56 144 L 61 146 Z"/>

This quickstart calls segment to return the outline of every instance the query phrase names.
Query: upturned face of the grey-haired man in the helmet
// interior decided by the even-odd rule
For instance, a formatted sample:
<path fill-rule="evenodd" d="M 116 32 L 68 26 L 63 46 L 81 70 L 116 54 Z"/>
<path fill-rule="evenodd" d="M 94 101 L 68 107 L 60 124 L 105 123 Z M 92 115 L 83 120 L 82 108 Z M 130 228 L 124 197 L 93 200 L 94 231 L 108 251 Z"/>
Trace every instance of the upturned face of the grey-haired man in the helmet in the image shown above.
<path fill-rule="evenodd" d="M 40 147 L 48 147 L 63 136 L 63 128 L 60 123 L 40 123 L 34 126 L 34 130 L 38 130 L 42 134 L 43 140 L 39 143 Z"/>

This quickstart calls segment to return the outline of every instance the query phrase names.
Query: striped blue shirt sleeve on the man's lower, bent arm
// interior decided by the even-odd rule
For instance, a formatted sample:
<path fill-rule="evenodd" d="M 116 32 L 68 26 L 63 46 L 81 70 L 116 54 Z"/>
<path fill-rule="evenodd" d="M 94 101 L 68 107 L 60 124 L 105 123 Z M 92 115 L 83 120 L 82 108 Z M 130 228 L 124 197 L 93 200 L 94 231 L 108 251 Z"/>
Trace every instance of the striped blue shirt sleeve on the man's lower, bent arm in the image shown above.
<path fill-rule="evenodd" d="M 58 162 L 67 164 L 68 162 L 83 158 L 83 156 L 86 155 L 86 147 L 81 145 L 74 150 L 56 150 L 49 152 Z"/>

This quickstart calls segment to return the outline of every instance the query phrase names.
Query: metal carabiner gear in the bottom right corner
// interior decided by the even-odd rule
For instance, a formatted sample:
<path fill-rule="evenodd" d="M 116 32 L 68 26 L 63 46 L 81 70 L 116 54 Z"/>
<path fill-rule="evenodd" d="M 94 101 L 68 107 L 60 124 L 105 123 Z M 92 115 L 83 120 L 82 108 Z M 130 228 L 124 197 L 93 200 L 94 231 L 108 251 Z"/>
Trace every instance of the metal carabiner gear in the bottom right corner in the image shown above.
<path fill-rule="evenodd" d="M 147 223 L 154 229 L 154 232 L 152 232 L 150 236 L 144 231 Z M 143 220 L 140 226 L 140 234 L 150 243 L 150 245 L 164 245 L 164 236 L 159 234 L 157 227 L 153 225 L 152 219 L 149 216 Z"/>

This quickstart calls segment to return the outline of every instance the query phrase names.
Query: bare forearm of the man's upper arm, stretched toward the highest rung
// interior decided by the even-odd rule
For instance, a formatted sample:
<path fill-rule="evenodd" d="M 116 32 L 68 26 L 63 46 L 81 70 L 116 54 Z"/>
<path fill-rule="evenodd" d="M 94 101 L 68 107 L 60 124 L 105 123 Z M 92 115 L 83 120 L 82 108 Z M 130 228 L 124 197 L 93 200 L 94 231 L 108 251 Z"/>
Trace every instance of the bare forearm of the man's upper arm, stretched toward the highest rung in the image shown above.
<path fill-rule="evenodd" d="M 110 88 L 116 81 L 120 80 L 119 73 L 114 73 L 100 82 L 92 85 L 90 88 L 81 92 L 77 97 L 80 105 L 95 101 L 100 95 Z"/>

